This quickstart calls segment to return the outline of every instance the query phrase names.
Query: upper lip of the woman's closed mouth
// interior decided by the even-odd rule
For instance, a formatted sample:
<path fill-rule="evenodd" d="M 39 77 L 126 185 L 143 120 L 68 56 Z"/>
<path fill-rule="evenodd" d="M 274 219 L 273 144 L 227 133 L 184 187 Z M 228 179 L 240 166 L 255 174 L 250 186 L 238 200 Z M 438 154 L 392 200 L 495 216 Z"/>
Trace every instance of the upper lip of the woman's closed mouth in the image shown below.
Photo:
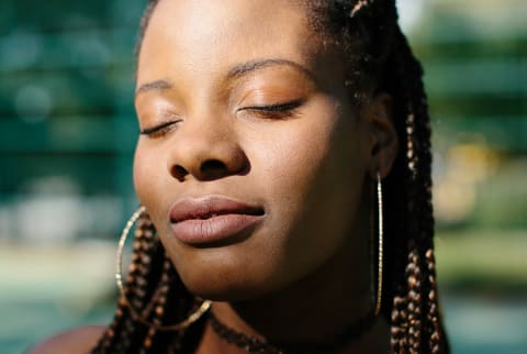
<path fill-rule="evenodd" d="M 210 219 L 225 214 L 262 215 L 264 208 L 255 207 L 235 199 L 209 196 L 204 198 L 184 198 L 172 204 L 169 212 L 171 223 L 184 220 Z"/>

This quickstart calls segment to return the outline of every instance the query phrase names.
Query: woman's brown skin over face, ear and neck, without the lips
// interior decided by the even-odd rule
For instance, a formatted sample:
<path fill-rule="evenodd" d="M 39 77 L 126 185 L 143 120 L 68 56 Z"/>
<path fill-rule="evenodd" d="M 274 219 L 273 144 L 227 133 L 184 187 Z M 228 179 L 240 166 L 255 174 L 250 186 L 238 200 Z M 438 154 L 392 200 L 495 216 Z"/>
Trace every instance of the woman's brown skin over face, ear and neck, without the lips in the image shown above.
<path fill-rule="evenodd" d="M 330 340 L 372 306 L 369 191 L 397 150 L 391 99 L 352 106 L 344 57 L 322 42 L 295 1 L 161 0 L 139 53 L 141 129 L 169 124 L 138 140 L 139 200 L 187 288 L 271 342 Z M 254 108 L 292 101 L 272 115 Z M 209 195 L 265 217 L 235 243 L 176 239 L 170 206 Z M 379 321 L 343 353 L 388 353 L 389 336 Z M 197 353 L 246 352 L 208 327 Z"/>

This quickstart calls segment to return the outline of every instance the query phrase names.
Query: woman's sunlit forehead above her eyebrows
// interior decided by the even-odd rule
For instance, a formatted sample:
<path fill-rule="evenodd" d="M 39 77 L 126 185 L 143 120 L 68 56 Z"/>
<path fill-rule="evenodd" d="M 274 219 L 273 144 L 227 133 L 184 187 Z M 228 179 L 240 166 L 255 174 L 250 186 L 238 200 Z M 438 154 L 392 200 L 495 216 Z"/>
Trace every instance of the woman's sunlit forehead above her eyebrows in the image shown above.
<path fill-rule="evenodd" d="M 195 79 L 261 58 L 311 66 L 316 37 L 307 15 L 299 1 L 161 0 L 143 40 L 138 81 L 182 69 Z"/>

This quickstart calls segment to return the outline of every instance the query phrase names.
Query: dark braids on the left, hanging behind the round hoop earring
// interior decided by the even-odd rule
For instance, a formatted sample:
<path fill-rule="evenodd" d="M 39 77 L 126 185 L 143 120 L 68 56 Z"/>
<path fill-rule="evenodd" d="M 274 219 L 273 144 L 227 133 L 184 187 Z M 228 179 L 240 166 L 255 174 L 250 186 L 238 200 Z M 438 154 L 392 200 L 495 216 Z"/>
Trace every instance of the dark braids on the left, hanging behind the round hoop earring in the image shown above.
<path fill-rule="evenodd" d="M 181 321 L 187 313 L 195 310 L 197 305 L 166 256 L 146 213 L 137 221 L 125 294 L 127 301 L 123 297 L 119 299 L 114 320 L 92 351 L 93 354 L 180 354 L 192 351 L 203 330 L 203 321 L 187 331 L 156 329 Z M 155 327 L 142 323 L 130 307 Z"/>

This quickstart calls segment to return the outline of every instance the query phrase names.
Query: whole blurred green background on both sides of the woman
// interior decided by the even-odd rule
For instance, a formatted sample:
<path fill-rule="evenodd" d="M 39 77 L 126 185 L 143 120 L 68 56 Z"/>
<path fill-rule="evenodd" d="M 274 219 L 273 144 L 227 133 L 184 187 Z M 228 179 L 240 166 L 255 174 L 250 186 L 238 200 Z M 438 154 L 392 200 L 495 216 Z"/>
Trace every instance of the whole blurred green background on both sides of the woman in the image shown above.
<path fill-rule="evenodd" d="M 426 71 L 452 347 L 527 353 L 527 2 L 399 2 Z M 112 316 L 144 4 L 0 3 L 0 353 Z"/>

